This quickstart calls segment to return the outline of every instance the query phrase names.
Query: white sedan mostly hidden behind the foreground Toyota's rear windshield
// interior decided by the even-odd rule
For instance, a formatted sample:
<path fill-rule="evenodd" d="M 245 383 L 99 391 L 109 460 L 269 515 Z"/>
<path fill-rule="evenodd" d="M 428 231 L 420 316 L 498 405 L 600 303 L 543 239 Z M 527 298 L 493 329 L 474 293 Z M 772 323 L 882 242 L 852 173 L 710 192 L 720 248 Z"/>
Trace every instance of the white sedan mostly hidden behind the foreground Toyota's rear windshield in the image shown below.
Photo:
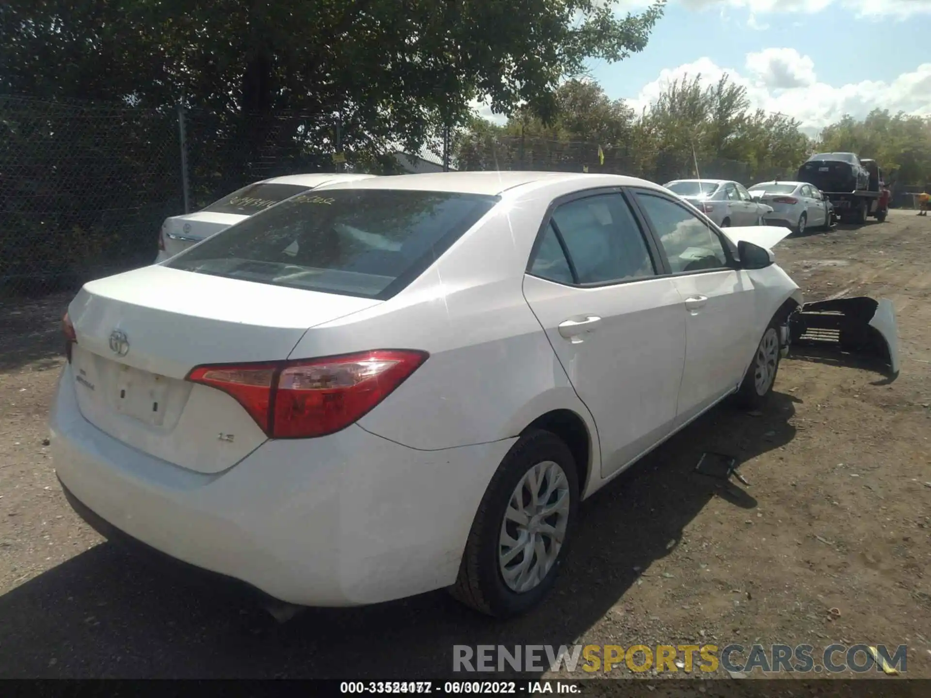
<path fill-rule="evenodd" d="M 270 180 L 256 181 L 233 194 L 223 196 L 207 208 L 195 213 L 170 216 L 162 223 L 158 234 L 158 255 L 155 263 L 165 262 L 192 245 L 219 233 L 224 228 L 244 221 L 265 208 L 301 194 L 309 189 L 339 181 L 368 180 L 374 175 L 360 174 L 306 174 L 273 177 Z"/>

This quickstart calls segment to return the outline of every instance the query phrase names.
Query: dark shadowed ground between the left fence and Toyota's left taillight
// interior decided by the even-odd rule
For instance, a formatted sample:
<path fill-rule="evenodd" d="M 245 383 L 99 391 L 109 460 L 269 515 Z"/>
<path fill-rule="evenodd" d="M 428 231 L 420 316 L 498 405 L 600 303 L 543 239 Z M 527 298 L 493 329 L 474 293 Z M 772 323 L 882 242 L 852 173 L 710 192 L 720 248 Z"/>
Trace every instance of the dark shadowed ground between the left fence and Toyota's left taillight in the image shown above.
<path fill-rule="evenodd" d="M 0 298 L 0 371 L 37 362 L 37 369 L 58 364 L 64 340 L 61 316 L 74 293 L 40 299 Z"/>

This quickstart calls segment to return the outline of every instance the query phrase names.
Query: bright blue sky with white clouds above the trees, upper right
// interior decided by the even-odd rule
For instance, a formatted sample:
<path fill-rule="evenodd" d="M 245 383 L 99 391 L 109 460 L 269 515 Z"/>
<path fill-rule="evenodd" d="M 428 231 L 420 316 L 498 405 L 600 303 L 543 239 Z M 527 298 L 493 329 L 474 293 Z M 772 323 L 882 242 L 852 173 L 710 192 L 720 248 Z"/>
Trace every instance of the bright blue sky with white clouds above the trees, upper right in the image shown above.
<path fill-rule="evenodd" d="M 649 2 L 614 5 L 624 14 Z M 668 0 L 641 53 L 589 71 L 638 111 L 685 74 L 726 73 L 753 107 L 793 116 L 812 137 L 876 107 L 931 115 L 931 0 Z"/>

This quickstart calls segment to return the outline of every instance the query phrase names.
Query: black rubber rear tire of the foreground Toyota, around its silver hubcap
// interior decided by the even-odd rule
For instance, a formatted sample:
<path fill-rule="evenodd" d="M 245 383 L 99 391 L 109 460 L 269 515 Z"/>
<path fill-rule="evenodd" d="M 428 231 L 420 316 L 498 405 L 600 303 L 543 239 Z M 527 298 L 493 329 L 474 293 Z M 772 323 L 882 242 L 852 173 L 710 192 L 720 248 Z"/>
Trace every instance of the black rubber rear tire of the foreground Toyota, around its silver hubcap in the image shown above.
<path fill-rule="evenodd" d="M 505 582 L 499 563 L 500 540 L 507 505 L 520 480 L 539 463 L 557 463 L 568 484 L 569 515 L 559 552 L 543 580 L 519 593 Z M 459 577 L 450 587 L 452 597 L 470 608 L 495 618 L 510 618 L 533 609 L 546 597 L 556 577 L 567 547 L 572 541 L 578 517 L 579 485 L 572 451 L 550 432 L 534 430 L 521 436 L 498 466 L 485 490 L 479 511 L 472 522 L 466 550 L 459 565 Z"/>

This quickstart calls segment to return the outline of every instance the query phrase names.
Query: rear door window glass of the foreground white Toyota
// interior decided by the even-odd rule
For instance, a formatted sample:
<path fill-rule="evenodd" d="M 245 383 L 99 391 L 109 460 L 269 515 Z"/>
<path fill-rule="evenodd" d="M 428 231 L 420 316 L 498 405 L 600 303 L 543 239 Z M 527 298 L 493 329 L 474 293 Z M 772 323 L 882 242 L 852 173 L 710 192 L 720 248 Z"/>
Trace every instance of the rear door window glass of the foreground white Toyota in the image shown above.
<path fill-rule="evenodd" d="M 640 226 L 622 195 L 596 195 L 563 204 L 553 222 L 580 284 L 623 281 L 655 274 Z"/>

